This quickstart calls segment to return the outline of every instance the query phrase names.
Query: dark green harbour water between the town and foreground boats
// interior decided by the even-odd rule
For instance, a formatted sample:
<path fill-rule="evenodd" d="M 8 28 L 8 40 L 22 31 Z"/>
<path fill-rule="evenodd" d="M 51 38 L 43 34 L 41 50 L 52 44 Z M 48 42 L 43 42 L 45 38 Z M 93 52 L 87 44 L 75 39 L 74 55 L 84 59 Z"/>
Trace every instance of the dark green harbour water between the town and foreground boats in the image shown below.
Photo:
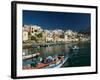
<path fill-rule="evenodd" d="M 74 45 L 78 46 L 79 49 L 72 50 L 71 47 Z M 79 67 L 79 66 L 91 65 L 90 42 L 81 42 L 81 43 L 72 42 L 62 45 L 23 49 L 23 51 L 26 53 L 26 55 L 40 52 L 43 58 L 59 54 L 68 56 L 69 57 L 68 60 L 62 67 Z"/>

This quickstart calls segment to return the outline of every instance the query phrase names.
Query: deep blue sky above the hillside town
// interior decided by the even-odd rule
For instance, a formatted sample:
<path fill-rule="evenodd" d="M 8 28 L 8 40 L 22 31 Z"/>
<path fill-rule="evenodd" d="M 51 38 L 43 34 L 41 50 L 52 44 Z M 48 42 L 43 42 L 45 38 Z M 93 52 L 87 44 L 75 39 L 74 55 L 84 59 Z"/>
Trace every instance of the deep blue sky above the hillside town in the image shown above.
<path fill-rule="evenodd" d="M 43 29 L 79 31 L 91 27 L 89 13 L 47 12 L 23 10 L 23 25 L 38 25 Z"/>

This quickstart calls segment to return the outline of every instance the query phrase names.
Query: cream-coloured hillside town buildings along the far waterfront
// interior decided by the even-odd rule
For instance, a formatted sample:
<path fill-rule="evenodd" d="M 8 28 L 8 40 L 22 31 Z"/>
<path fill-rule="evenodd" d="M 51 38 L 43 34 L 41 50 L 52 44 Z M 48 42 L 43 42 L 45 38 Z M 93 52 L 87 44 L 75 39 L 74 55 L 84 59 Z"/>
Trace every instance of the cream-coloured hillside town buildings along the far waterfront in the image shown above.
<path fill-rule="evenodd" d="M 90 37 L 72 30 L 47 30 L 38 25 L 23 25 L 23 43 L 89 41 Z"/>

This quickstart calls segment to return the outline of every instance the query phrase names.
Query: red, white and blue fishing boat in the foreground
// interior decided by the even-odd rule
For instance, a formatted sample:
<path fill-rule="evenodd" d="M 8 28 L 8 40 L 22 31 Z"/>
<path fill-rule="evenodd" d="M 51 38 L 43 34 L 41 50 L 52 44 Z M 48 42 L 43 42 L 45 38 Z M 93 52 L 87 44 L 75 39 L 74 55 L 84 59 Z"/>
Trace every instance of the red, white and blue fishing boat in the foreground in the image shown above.
<path fill-rule="evenodd" d="M 49 63 L 38 63 L 35 67 L 30 66 L 29 64 L 32 64 L 32 61 L 27 62 L 26 66 L 23 66 L 23 69 L 46 69 L 46 68 L 60 68 L 63 66 L 63 64 L 68 60 L 67 57 L 60 56 L 60 59 L 56 61 L 52 61 Z"/>

